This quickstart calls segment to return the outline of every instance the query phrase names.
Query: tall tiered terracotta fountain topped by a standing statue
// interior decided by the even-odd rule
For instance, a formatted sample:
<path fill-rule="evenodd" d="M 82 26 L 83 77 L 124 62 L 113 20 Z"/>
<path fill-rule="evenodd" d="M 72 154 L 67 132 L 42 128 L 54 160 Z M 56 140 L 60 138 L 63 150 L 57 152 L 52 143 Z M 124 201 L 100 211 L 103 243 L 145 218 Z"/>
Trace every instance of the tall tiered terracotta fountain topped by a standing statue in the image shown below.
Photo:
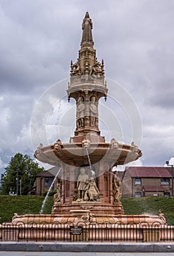
<path fill-rule="evenodd" d="M 39 161 L 61 170 L 51 214 L 16 215 L 12 222 L 77 223 L 89 220 L 97 223 L 133 222 L 165 223 L 159 216 L 125 215 L 121 205 L 121 183 L 113 167 L 125 165 L 142 156 L 135 145 L 105 141 L 99 130 L 99 99 L 107 99 L 104 61 L 100 63 L 94 50 L 92 21 L 86 12 L 79 57 L 71 61 L 68 99 L 76 102 L 76 129 L 69 143 L 61 138 L 50 146 L 40 146 L 34 153 Z M 60 178 L 61 177 L 61 178 Z"/>

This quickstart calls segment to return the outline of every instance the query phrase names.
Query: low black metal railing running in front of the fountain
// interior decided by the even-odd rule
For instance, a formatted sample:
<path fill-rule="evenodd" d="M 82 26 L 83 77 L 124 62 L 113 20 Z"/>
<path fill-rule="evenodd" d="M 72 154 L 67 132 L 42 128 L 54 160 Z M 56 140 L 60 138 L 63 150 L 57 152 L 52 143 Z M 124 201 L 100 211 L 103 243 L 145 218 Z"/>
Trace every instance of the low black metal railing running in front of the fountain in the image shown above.
<path fill-rule="evenodd" d="M 127 225 L 117 222 L 72 222 L 53 224 L 35 222 L 0 225 L 0 241 L 98 241 L 159 242 L 174 241 L 174 226 L 154 222 Z"/>

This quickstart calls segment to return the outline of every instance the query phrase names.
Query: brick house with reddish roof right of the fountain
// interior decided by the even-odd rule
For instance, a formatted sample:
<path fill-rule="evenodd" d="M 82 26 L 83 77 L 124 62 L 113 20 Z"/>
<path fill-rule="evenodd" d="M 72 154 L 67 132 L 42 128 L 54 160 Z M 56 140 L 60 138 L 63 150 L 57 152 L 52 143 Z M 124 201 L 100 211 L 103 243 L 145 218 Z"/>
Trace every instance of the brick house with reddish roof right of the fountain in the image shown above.
<path fill-rule="evenodd" d="M 172 176 L 167 167 L 126 167 L 122 176 L 122 197 L 172 195 Z"/>

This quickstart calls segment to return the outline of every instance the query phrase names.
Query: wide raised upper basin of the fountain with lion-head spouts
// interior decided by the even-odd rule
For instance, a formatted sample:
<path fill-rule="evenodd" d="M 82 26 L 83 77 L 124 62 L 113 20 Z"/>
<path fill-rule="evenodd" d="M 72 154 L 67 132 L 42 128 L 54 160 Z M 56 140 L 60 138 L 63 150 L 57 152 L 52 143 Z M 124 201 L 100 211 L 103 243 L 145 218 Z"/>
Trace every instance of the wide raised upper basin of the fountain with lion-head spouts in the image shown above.
<path fill-rule="evenodd" d="M 85 148 L 83 143 L 64 143 L 57 147 L 55 144 L 39 147 L 34 157 L 50 165 L 60 165 L 60 162 L 63 162 L 67 165 L 82 166 L 88 165 L 86 149 L 91 165 L 103 160 L 109 161 L 110 166 L 125 165 L 142 156 L 139 148 L 121 143 L 118 143 L 116 147 L 113 143 L 90 143 L 88 148 Z"/>

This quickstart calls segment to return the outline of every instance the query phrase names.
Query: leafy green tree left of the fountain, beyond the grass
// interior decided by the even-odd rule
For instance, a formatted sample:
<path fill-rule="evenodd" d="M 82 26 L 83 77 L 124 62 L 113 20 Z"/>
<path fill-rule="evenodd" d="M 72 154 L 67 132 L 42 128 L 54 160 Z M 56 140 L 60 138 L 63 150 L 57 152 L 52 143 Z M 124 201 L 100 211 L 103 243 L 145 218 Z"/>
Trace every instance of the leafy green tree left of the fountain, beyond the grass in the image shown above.
<path fill-rule="evenodd" d="M 13 191 L 17 195 L 20 192 L 21 195 L 27 195 L 34 186 L 36 175 L 42 171 L 44 168 L 39 167 L 29 155 L 15 154 L 5 167 L 5 172 L 1 174 L 1 194 L 9 195 L 9 192 Z"/>

